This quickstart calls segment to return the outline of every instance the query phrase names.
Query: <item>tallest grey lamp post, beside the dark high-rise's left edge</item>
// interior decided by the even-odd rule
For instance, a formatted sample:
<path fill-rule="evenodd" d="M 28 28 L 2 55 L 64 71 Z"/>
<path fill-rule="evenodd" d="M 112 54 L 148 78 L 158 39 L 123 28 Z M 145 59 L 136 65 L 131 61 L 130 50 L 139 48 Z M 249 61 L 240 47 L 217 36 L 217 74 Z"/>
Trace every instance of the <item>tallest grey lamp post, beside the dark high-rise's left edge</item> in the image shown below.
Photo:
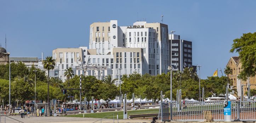
<path fill-rule="evenodd" d="M 170 64 L 172 65 L 172 33 L 171 31 L 171 59 Z M 172 120 L 172 66 L 170 65 L 170 119 Z"/>

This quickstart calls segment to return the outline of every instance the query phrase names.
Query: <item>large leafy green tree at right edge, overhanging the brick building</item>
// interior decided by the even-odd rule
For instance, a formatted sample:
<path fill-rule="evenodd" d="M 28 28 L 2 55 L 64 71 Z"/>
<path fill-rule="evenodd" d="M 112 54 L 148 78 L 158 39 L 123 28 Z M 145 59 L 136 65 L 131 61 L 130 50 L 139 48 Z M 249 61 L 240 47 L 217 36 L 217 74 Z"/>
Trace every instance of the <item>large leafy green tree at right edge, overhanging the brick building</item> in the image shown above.
<path fill-rule="evenodd" d="M 256 32 L 243 34 L 234 39 L 230 52 L 238 52 L 242 64 L 239 79 L 247 80 L 256 74 Z"/>

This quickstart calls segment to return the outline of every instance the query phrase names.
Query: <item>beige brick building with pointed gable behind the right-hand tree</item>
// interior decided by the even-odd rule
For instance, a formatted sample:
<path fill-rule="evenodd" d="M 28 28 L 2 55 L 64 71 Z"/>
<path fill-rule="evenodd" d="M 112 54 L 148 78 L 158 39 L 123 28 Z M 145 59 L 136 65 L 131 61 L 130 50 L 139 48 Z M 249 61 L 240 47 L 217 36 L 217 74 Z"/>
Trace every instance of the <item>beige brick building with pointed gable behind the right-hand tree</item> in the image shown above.
<path fill-rule="evenodd" d="M 235 88 L 238 91 L 238 96 L 241 96 L 241 85 L 243 86 L 243 92 L 244 95 L 247 95 L 247 93 L 245 93 L 247 91 L 247 84 L 250 82 L 251 86 L 250 89 L 256 89 L 255 85 L 252 84 L 256 84 L 256 78 L 255 77 L 250 77 L 247 81 L 243 81 L 237 78 L 237 76 L 239 75 L 240 71 L 242 71 L 242 64 L 240 62 L 239 57 L 231 57 L 228 61 L 227 66 L 229 66 L 232 70 L 231 75 L 228 75 L 228 78 L 231 79 L 233 86 L 236 86 Z M 253 96 L 253 95 L 251 95 Z"/>

